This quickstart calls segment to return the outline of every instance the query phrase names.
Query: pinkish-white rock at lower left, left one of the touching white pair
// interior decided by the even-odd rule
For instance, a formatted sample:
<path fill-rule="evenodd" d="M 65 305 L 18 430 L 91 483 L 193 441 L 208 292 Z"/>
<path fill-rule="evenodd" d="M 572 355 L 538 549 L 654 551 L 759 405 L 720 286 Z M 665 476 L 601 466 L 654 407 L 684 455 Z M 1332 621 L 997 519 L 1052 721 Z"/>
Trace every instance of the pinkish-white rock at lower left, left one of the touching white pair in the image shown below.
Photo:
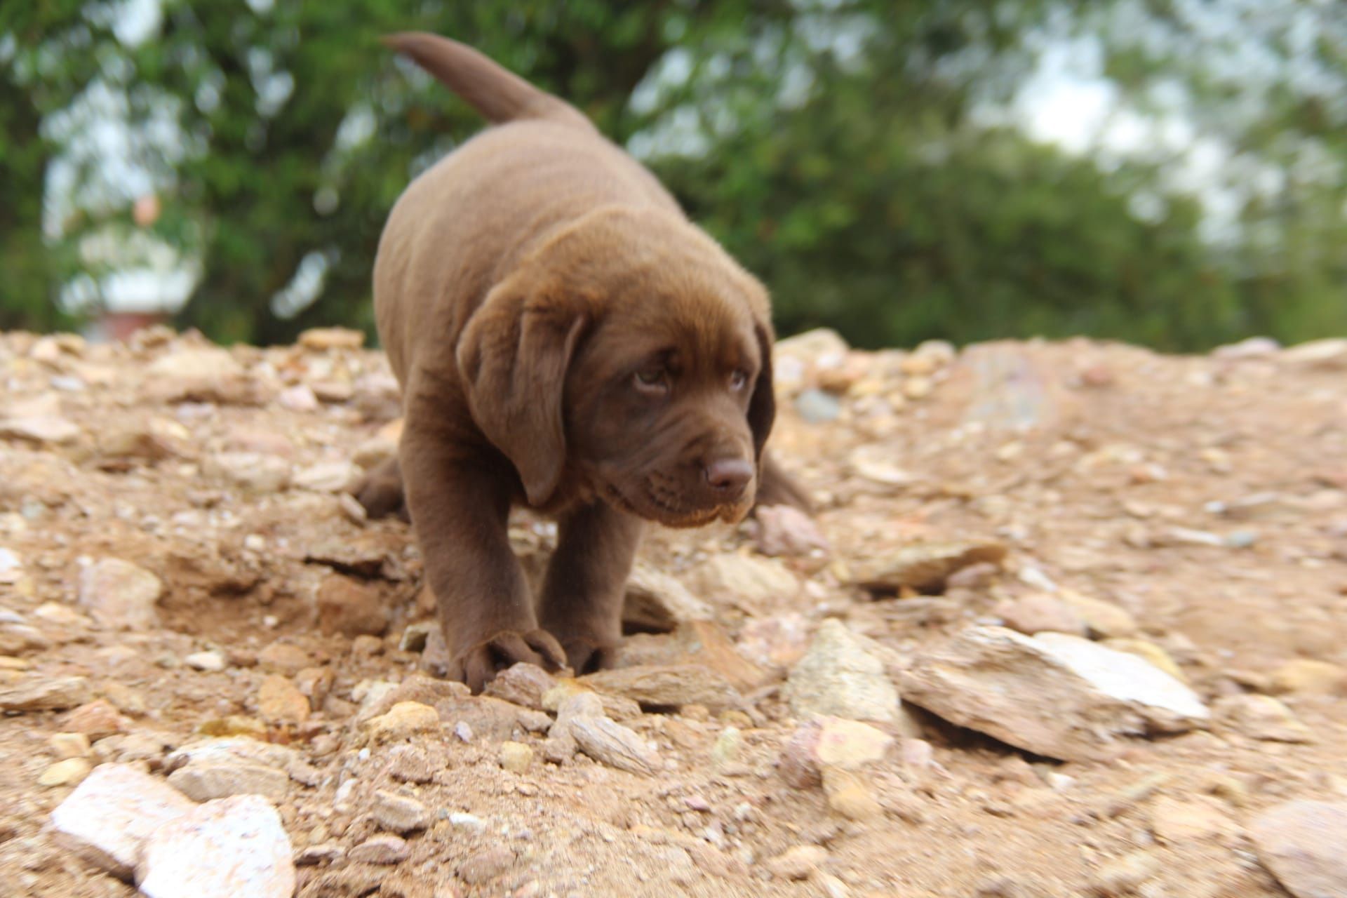
<path fill-rule="evenodd" d="M 195 805 L 137 767 L 105 763 L 51 812 L 55 840 L 113 875 L 128 878 L 141 843 Z"/>

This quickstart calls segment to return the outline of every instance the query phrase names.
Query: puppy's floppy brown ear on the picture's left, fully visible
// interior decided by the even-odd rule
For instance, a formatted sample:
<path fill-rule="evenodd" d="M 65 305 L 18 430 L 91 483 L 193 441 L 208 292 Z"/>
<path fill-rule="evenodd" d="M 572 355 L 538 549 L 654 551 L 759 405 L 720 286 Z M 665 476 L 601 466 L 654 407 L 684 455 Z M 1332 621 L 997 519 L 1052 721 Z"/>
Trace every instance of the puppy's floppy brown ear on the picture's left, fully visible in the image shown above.
<path fill-rule="evenodd" d="M 473 420 L 515 464 L 529 505 L 556 490 L 566 464 L 562 394 L 585 314 L 555 284 L 497 284 L 458 341 Z"/>

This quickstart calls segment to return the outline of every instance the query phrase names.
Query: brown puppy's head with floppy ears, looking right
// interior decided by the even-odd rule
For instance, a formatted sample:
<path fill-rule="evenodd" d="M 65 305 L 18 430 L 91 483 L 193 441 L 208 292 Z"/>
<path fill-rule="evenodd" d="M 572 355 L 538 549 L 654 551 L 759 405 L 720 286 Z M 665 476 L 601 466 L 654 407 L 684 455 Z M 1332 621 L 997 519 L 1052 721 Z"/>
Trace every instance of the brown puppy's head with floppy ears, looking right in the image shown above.
<path fill-rule="evenodd" d="M 776 412 L 766 292 L 680 218 L 599 210 L 552 237 L 473 315 L 458 362 L 532 505 L 563 471 L 668 526 L 753 505 Z"/>

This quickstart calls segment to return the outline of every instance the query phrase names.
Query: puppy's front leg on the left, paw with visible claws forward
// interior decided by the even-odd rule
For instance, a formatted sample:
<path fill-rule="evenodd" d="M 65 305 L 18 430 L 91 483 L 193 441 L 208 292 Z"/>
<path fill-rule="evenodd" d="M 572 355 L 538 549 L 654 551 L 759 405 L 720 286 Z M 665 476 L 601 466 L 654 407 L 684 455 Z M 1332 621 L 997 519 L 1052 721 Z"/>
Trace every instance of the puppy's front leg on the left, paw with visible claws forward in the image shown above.
<path fill-rule="evenodd" d="M 439 603 L 450 648 L 450 676 L 473 692 L 516 661 L 556 669 L 566 653 L 537 627 L 524 571 L 511 549 L 511 481 L 465 460 L 443 436 L 403 435 L 407 504 Z"/>

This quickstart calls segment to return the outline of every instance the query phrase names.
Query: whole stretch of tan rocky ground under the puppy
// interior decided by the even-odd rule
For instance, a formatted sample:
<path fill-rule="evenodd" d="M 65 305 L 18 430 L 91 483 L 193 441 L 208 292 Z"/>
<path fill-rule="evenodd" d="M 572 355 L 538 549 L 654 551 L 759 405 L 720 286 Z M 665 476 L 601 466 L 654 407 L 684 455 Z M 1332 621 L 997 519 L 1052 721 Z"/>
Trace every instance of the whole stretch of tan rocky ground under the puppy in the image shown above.
<path fill-rule="evenodd" d="M 818 532 L 653 530 L 617 670 L 471 697 L 358 338 L 0 338 L 0 894 L 1347 895 L 1347 342 L 776 369 Z"/>

